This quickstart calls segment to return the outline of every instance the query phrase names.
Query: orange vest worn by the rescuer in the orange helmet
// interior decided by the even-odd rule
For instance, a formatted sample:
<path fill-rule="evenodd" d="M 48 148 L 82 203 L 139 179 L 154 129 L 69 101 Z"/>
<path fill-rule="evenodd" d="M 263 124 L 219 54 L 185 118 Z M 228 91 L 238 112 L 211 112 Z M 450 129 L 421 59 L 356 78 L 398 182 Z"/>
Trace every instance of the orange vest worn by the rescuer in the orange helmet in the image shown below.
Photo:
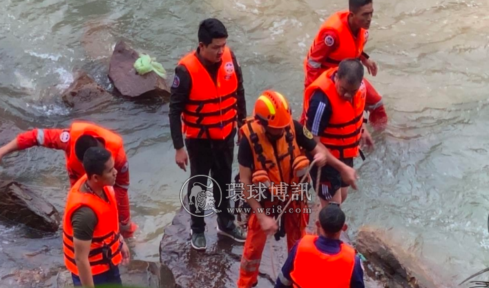
<path fill-rule="evenodd" d="M 265 128 L 256 119 L 246 119 L 245 124 L 241 126 L 240 133 L 247 137 L 251 151 L 253 151 L 253 172 L 267 171 L 274 185 L 280 185 L 280 182 L 293 184 L 295 179 L 292 166 L 296 157 L 301 155 L 296 142 L 293 121 L 285 128 L 284 135 L 276 141 L 276 148 L 265 135 Z M 298 180 L 295 181 L 298 182 Z M 274 192 L 278 191 L 272 189 L 272 193 Z"/>

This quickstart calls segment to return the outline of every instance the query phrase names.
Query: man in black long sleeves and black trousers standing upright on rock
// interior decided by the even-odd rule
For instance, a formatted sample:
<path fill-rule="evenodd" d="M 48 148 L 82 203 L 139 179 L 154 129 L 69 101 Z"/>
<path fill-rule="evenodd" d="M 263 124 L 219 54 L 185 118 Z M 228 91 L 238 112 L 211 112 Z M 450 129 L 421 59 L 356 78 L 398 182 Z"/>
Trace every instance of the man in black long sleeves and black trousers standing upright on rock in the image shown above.
<path fill-rule="evenodd" d="M 218 19 L 200 23 L 197 50 L 183 57 L 175 68 L 169 117 L 175 162 L 186 171 L 190 159 L 191 177 L 209 175 L 211 171 L 211 177 L 220 186 L 213 189 L 215 203 L 220 203 L 216 209 L 221 211 L 217 213 L 218 233 L 245 242 L 242 230 L 234 224 L 234 215 L 227 209 L 234 137 L 247 115 L 241 68 L 226 45 L 227 37 L 227 30 Z M 207 178 L 201 178 L 191 178 L 189 196 L 194 184 L 207 184 Z M 196 212 L 194 205 L 189 207 L 192 214 L 204 215 L 203 211 Z M 194 249 L 206 249 L 204 218 L 195 215 L 191 215 L 191 245 Z"/>

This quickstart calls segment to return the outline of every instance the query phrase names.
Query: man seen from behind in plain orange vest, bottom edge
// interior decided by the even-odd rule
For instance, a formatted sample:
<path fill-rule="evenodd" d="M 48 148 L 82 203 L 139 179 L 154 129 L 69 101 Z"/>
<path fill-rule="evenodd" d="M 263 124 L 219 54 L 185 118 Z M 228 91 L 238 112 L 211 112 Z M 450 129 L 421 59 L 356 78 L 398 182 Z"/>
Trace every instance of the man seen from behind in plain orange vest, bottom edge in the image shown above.
<path fill-rule="evenodd" d="M 335 204 L 319 212 L 319 236 L 307 235 L 289 253 L 275 288 L 363 288 L 363 265 L 355 249 L 340 240 L 345 213 Z"/>

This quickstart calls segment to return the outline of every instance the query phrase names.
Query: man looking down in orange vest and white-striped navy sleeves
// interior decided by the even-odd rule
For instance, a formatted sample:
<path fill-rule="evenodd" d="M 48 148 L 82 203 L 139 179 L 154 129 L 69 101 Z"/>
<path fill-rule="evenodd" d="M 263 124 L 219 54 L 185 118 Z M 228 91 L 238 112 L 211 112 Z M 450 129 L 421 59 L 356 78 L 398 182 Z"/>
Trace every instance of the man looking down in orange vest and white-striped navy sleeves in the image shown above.
<path fill-rule="evenodd" d="M 341 61 L 337 68 L 326 70 L 305 90 L 306 126 L 328 153 L 328 163 L 321 171 L 319 191 L 316 191 L 323 207 L 329 201 L 345 201 L 348 186 L 356 189 L 353 160 L 360 153 L 360 144 L 374 147 L 363 125 L 364 108 L 363 66 L 358 59 Z M 314 187 L 318 181 L 316 173 L 313 167 Z"/>

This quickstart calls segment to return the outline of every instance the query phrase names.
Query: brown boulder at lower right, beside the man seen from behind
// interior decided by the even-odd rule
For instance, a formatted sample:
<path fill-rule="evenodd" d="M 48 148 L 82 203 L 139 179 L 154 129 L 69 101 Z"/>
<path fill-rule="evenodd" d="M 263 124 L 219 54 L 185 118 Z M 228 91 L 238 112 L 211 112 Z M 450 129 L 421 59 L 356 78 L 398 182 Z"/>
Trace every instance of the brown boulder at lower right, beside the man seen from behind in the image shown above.
<path fill-rule="evenodd" d="M 413 253 L 395 242 L 385 229 L 361 227 L 356 248 L 367 258 L 365 269 L 385 287 L 446 287 Z"/>

